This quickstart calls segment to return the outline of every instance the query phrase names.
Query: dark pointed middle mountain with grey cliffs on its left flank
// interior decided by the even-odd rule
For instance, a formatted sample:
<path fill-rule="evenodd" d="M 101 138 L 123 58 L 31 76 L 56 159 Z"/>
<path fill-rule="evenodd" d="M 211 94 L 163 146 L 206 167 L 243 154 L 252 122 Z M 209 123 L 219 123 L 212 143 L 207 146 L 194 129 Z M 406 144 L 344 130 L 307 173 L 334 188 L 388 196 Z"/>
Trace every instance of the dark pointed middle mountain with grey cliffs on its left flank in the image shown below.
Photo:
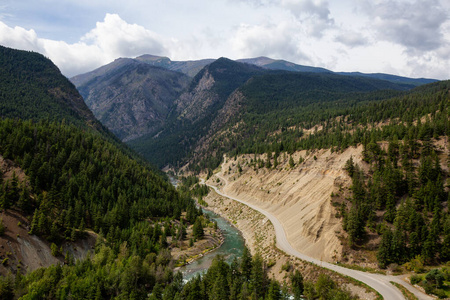
<path fill-rule="evenodd" d="M 247 139 L 254 135 L 255 128 L 267 138 L 267 132 L 284 128 L 287 123 L 296 124 L 302 118 L 299 114 L 309 118 L 317 105 L 332 102 L 336 106 L 337 100 L 379 100 L 411 87 L 335 74 L 270 71 L 221 58 L 197 74 L 189 90 L 177 100 L 160 134 L 133 140 L 129 145 L 161 167 L 188 161 L 193 167 L 202 161 L 200 168 L 214 168 L 223 153 L 241 148 L 234 142 L 205 144 L 205 138 L 221 135 L 226 128 L 240 132 L 236 136 L 239 143 L 255 146 Z M 214 158 L 204 159 L 211 154 Z M 195 168 L 198 170 L 198 166 Z"/>

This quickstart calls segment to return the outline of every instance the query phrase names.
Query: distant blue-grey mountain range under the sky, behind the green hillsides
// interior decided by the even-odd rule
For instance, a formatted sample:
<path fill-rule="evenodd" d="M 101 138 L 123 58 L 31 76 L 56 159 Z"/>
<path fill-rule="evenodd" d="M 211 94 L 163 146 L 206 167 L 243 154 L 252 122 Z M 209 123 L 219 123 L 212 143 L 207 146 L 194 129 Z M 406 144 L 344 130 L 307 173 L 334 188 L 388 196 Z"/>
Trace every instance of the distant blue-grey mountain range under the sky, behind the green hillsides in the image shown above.
<path fill-rule="evenodd" d="M 389 74 L 334 73 L 267 57 L 172 61 L 153 55 L 120 58 L 71 81 L 106 127 L 161 167 L 191 155 L 208 132 L 212 134 L 236 117 L 239 101 L 243 100 L 238 90 L 267 78 L 277 82 L 276 90 L 285 89 L 285 85 L 307 86 L 296 93 L 310 99 L 326 98 L 323 90 L 320 96 L 317 90 L 328 82 L 329 93 L 334 94 L 330 99 L 334 100 L 344 93 L 406 91 L 435 81 Z M 336 87 L 341 89 L 339 95 Z"/>

